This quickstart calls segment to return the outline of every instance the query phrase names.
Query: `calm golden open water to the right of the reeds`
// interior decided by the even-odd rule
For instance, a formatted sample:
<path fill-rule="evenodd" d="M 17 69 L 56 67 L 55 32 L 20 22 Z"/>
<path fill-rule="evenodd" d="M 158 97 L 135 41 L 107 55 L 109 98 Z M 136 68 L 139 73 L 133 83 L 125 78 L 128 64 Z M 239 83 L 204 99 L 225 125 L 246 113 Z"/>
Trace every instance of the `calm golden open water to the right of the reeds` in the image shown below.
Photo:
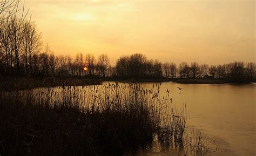
<path fill-rule="evenodd" d="M 256 155 L 256 84 L 163 83 L 160 93 L 166 89 L 171 90 L 174 104 L 186 103 L 188 124 L 213 138 L 211 155 Z M 138 155 L 173 155 L 173 151 Z"/>

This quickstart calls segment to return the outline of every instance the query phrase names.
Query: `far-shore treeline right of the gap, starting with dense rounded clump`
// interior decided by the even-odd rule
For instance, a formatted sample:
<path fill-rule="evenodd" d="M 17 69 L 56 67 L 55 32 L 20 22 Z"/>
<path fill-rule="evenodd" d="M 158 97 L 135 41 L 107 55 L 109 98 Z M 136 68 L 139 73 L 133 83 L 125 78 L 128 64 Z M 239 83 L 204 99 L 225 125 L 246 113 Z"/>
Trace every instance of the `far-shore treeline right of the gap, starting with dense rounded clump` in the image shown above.
<path fill-rule="evenodd" d="M 223 65 L 198 64 L 192 62 L 161 63 L 159 60 L 147 59 L 142 54 L 120 57 L 115 73 L 118 78 L 218 78 L 234 81 L 255 79 L 256 64 L 232 62 Z"/>

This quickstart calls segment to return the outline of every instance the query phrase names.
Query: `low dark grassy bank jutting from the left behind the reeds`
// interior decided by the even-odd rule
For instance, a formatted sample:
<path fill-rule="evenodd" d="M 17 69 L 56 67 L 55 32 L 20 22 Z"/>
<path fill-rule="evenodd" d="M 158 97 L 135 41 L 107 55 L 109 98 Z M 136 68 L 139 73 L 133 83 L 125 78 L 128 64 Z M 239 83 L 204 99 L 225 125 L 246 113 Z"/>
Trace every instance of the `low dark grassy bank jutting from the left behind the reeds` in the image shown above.
<path fill-rule="evenodd" d="M 34 89 L 36 87 L 85 86 L 102 84 L 99 79 L 85 78 L 5 78 L 0 80 L 0 91 Z"/>

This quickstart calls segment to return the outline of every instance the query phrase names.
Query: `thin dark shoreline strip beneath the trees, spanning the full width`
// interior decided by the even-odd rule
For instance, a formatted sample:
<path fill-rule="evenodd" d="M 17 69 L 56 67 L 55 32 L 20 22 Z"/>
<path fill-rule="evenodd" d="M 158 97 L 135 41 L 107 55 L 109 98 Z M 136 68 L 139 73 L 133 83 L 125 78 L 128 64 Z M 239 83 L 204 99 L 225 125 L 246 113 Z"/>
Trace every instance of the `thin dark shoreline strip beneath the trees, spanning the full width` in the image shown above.
<path fill-rule="evenodd" d="M 11 90 L 25 90 L 35 89 L 37 87 L 57 87 L 57 86 L 87 86 L 87 85 L 101 85 L 103 82 L 135 82 L 135 83 L 179 83 L 179 84 L 251 84 L 255 81 L 241 81 L 235 82 L 234 80 L 225 79 L 192 79 L 192 78 L 159 78 L 159 79 L 113 79 L 113 78 L 29 78 L 29 77 L 16 77 L 5 78 L 0 80 L 0 91 Z"/>

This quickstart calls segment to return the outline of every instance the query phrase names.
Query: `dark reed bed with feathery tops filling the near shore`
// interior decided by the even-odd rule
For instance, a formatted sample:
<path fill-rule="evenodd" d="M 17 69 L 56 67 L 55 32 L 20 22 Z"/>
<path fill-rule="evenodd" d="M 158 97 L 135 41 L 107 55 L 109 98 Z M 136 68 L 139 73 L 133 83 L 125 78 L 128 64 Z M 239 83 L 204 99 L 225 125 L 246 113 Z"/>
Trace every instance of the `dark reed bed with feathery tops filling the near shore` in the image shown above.
<path fill-rule="evenodd" d="M 122 155 L 150 148 L 156 137 L 163 147 L 189 145 L 204 154 L 200 137 L 186 133 L 186 106 L 173 106 L 169 90 L 160 98 L 159 87 L 116 83 L 1 92 L 0 154 Z"/>

